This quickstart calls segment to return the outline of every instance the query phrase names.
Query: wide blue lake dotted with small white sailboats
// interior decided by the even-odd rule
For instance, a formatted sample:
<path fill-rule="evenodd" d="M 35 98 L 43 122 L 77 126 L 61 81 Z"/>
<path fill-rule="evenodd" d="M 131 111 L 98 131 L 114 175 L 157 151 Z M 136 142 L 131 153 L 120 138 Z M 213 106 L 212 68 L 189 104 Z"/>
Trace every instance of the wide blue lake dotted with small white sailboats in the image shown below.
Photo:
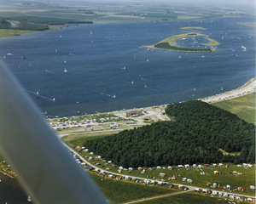
<path fill-rule="evenodd" d="M 253 21 L 227 18 L 71 26 L 0 39 L 0 56 L 5 56 L 9 69 L 48 116 L 161 105 L 219 94 L 221 88 L 229 91 L 255 77 L 255 30 L 239 24 Z M 220 42 L 217 51 L 142 48 L 182 34 L 183 26 L 206 28 L 201 32 Z M 177 44 L 205 48 L 201 43 L 206 39 L 195 40 L 199 43 L 189 37 Z M 33 94 L 37 92 L 42 97 Z"/>

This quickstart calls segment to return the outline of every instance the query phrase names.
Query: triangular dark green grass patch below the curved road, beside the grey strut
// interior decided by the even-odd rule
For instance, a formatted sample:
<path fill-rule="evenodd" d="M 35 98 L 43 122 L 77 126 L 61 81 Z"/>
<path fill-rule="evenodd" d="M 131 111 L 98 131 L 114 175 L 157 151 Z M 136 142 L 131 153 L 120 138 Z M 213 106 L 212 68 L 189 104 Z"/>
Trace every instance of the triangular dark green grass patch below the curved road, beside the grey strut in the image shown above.
<path fill-rule="evenodd" d="M 148 187 L 143 184 L 132 184 L 131 182 L 103 178 L 102 175 L 96 173 L 88 174 L 113 204 L 177 192 L 177 188 L 170 190 L 160 186 Z"/>

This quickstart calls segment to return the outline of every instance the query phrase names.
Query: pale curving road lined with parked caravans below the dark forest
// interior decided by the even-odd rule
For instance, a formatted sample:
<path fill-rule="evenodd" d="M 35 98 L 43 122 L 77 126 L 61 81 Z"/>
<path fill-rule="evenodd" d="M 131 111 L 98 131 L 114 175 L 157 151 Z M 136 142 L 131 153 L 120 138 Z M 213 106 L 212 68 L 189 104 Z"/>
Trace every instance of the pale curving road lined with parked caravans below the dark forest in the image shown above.
<path fill-rule="evenodd" d="M 63 143 L 63 144 L 65 144 L 65 143 Z M 66 147 L 67 147 L 68 150 L 73 151 L 73 154 L 79 156 L 79 154 L 78 154 L 75 150 L 73 150 L 72 148 L 70 148 L 69 146 L 67 146 L 67 144 L 65 144 L 65 145 L 66 145 Z M 104 169 L 102 169 L 102 168 L 100 168 L 100 167 L 97 167 L 97 166 L 91 164 L 89 161 L 86 161 L 86 160 L 84 159 L 84 157 L 82 157 L 82 156 L 79 156 L 79 159 L 82 160 L 82 161 L 84 161 L 84 163 L 86 163 L 87 165 L 90 165 L 90 167 L 100 169 L 101 171 L 103 171 L 103 172 L 105 172 L 105 173 L 113 174 L 113 175 L 116 175 L 116 176 L 122 176 L 122 177 L 128 176 L 129 178 L 139 178 L 140 180 L 146 180 L 146 179 L 147 179 L 147 180 L 150 180 L 150 181 L 157 182 L 157 181 L 154 180 L 154 179 L 148 179 L 148 178 L 142 178 L 142 177 L 133 177 L 133 176 L 131 176 L 131 175 L 129 175 L 129 174 L 128 174 L 128 175 L 125 175 L 125 174 L 123 174 L 123 173 L 113 173 L 113 172 L 109 172 L 109 171 L 106 171 L 106 170 L 104 170 Z M 187 185 L 187 184 L 177 184 L 177 183 L 175 183 L 175 185 L 186 185 L 186 186 L 189 188 L 189 190 L 195 190 L 196 188 L 202 189 L 201 187 L 192 186 L 192 185 Z M 242 194 L 238 194 L 238 193 L 236 193 L 236 192 L 230 193 L 230 192 L 222 191 L 222 190 L 214 190 L 214 191 L 217 191 L 218 193 L 221 192 L 221 193 L 223 193 L 223 194 L 224 194 L 224 193 L 232 194 L 232 195 L 236 194 L 236 196 L 246 196 L 246 197 L 250 197 L 250 198 L 253 198 L 253 199 L 256 198 L 255 196 L 242 195 Z M 183 191 L 183 192 L 184 192 L 184 191 Z M 186 192 L 186 191 L 185 191 L 185 192 Z"/>

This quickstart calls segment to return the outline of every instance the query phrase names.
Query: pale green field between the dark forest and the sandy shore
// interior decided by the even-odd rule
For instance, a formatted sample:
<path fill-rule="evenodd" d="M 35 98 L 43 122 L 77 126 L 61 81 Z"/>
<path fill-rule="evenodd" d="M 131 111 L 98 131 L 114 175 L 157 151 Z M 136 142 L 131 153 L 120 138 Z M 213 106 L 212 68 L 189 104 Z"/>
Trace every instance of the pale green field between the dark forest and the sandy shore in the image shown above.
<path fill-rule="evenodd" d="M 255 124 L 255 93 L 212 104 Z"/>

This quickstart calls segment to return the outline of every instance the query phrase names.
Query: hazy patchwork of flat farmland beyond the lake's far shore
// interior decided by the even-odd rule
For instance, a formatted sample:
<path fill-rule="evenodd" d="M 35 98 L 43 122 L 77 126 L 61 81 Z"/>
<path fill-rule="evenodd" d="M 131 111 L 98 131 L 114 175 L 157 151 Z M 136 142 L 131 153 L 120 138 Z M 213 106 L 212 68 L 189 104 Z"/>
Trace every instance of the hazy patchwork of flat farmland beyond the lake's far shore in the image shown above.
<path fill-rule="evenodd" d="M 66 1 L 59 3 L 0 3 L 1 20 L 15 20 L 17 22 L 26 21 L 30 28 L 27 31 L 60 29 L 63 26 L 73 26 L 87 24 L 109 24 L 125 22 L 143 22 L 155 20 L 197 20 L 211 19 L 225 16 L 239 16 L 236 10 L 227 12 L 224 8 L 193 7 L 183 8 L 183 5 L 172 4 L 143 4 L 137 3 L 74 3 L 70 5 Z M 244 17 L 251 16 L 248 12 Z M 1 23 L 0 23 L 1 26 Z M 44 27 L 44 28 L 42 28 Z M 17 28 L 15 28 L 17 29 Z M 20 28 L 21 29 L 21 28 Z M 1 29 L 0 29 L 1 30 Z M 9 27 L 9 30 L 13 30 Z M 19 30 L 19 26 L 18 26 Z M 46 29 L 47 30 L 47 29 Z M 6 32 L 3 37 L 15 35 L 12 32 Z M 18 33 L 25 34 L 26 32 Z M 2 36 L 0 36 L 2 37 Z"/>

